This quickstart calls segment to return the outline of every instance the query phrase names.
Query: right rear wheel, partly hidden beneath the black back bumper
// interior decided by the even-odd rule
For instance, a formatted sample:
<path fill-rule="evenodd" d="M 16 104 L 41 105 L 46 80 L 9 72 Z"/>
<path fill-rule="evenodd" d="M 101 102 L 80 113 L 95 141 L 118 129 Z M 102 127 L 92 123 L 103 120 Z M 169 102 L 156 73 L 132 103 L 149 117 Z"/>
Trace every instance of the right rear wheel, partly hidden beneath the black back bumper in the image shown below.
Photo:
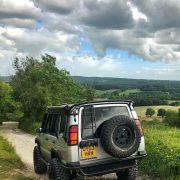
<path fill-rule="evenodd" d="M 135 180 L 137 177 L 138 168 L 133 167 L 116 172 L 118 180 Z"/>

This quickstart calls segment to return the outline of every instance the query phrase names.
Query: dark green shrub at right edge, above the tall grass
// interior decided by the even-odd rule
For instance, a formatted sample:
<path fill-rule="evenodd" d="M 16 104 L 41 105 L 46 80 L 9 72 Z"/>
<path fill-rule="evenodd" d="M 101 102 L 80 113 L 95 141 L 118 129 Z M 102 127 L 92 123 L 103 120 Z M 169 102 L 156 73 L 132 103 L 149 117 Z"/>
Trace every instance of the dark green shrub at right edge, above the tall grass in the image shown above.
<path fill-rule="evenodd" d="M 173 110 L 167 110 L 163 122 L 170 126 L 180 127 L 180 109 L 178 112 Z"/>

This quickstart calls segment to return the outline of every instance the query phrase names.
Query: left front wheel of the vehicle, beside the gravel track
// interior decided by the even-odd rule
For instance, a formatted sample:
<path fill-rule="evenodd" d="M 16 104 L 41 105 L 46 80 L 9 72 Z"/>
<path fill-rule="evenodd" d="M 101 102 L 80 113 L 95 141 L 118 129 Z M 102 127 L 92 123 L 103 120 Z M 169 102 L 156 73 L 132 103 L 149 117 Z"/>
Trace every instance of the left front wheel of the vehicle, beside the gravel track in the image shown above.
<path fill-rule="evenodd" d="M 38 146 L 34 147 L 33 151 L 33 162 L 34 162 L 34 171 L 37 174 L 44 174 L 47 171 L 46 164 L 41 160 L 41 152 Z"/>

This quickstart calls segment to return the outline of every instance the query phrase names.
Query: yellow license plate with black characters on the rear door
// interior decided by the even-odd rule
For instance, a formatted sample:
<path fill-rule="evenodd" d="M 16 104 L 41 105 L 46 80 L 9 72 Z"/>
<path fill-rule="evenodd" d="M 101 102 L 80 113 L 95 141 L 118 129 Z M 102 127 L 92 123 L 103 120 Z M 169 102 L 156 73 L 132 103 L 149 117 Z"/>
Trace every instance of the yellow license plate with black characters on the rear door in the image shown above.
<path fill-rule="evenodd" d="M 96 157 L 96 146 L 86 146 L 81 150 L 81 155 L 83 159 Z"/>

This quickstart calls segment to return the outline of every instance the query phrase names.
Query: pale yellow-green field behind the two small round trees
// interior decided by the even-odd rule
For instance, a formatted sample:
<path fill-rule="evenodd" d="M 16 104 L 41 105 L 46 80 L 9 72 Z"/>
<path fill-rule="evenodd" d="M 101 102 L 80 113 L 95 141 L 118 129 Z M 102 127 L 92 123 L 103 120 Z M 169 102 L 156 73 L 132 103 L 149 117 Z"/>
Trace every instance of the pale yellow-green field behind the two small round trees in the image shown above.
<path fill-rule="evenodd" d="M 156 111 L 156 114 L 153 117 L 157 117 L 157 111 L 160 108 L 163 108 L 165 110 L 169 110 L 170 109 L 170 110 L 177 111 L 180 108 L 180 106 L 166 106 L 166 105 L 162 105 L 162 106 L 139 106 L 139 107 L 135 107 L 135 110 L 136 110 L 138 116 L 140 117 L 140 119 L 146 118 L 145 113 L 146 113 L 146 109 L 147 108 L 153 108 Z"/>

